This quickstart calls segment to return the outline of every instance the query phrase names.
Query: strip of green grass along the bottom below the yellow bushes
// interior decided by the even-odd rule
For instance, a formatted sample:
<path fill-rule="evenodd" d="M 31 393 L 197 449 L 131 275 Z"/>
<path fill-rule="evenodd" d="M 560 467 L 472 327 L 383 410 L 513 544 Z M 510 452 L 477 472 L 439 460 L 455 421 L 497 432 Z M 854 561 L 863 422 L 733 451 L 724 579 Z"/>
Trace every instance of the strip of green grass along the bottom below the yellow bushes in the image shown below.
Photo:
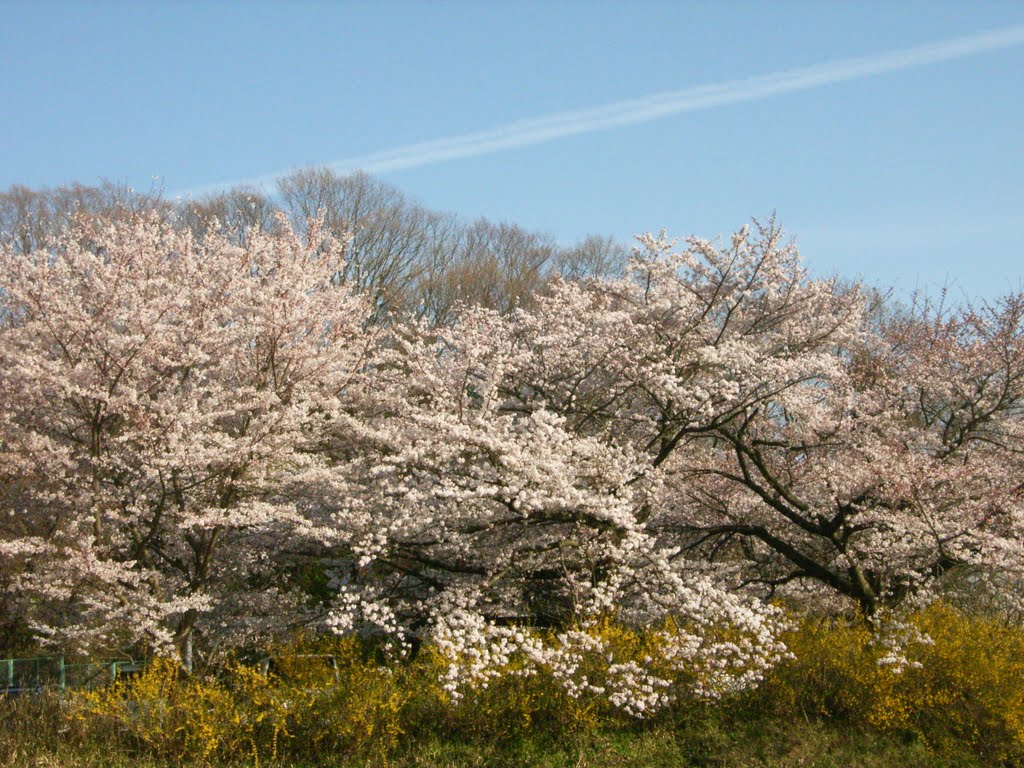
<path fill-rule="evenodd" d="M 55 699 L 8 702 L 0 735 L 0 765 L 9 768 L 211 768 L 253 766 L 182 763 L 132 754 L 124 745 L 85 742 L 61 721 Z M 11 716 L 14 716 L 13 718 Z M 62 730 L 62 732 L 61 732 Z M 386 758 L 258 763 L 262 768 L 981 768 L 980 759 L 946 758 L 912 738 L 902 739 L 839 722 L 783 722 L 740 712 L 599 729 L 580 736 L 521 731 L 500 740 L 408 739 Z"/>

